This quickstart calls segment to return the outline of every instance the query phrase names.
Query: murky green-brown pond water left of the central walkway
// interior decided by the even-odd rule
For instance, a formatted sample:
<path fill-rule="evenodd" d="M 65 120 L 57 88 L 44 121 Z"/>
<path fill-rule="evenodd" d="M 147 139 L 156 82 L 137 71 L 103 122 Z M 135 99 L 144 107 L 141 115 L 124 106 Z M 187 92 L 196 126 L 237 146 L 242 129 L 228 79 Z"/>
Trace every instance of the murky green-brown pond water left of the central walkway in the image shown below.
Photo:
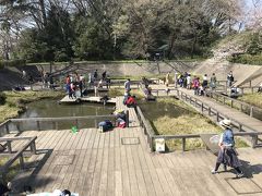
<path fill-rule="evenodd" d="M 80 105 L 59 105 L 58 100 L 43 99 L 26 105 L 26 111 L 19 118 L 61 118 L 61 117 L 84 117 L 84 115 L 107 115 L 111 114 L 115 110 L 114 105 L 104 106 L 102 103 L 80 103 Z M 79 128 L 95 127 L 95 125 L 105 119 L 95 120 L 80 120 Z M 58 130 L 70 130 L 75 125 L 74 121 L 59 122 Z M 37 130 L 35 122 L 20 123 L 10 125 L 11 130 Z M 52 130 L 51 122 L 40 122 L 40 130 Z"/>

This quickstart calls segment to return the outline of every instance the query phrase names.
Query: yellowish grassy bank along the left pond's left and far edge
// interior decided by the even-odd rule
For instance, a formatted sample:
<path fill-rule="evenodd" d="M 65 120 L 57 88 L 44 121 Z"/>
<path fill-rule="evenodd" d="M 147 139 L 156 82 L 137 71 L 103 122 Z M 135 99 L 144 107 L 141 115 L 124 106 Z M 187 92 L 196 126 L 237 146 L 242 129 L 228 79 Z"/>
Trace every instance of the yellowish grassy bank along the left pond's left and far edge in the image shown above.
<path fill-rule="evenodd" d="M 58 98 L 62 91 L 3 91 L 7 96 L 4 105 L 0 106 L 0 122 L 15 118 L 25 109 L 25 103 L 45 98 Z"/>

